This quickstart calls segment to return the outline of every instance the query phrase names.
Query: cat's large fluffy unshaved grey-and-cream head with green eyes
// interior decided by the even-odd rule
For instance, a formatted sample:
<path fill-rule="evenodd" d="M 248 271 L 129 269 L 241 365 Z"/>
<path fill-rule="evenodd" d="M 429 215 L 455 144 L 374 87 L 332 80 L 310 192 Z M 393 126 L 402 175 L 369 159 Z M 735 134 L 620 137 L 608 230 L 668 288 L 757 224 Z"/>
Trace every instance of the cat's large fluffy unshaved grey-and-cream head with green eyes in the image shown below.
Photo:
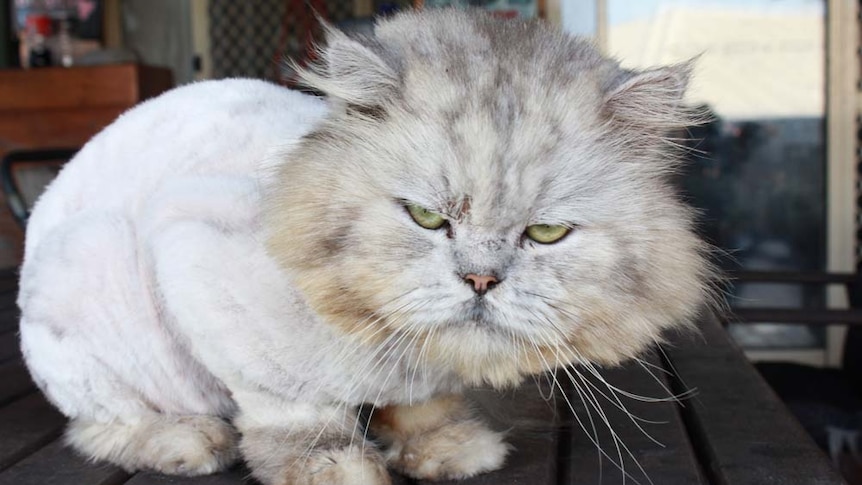
<path fill-rule="evenodd" d="M 437 10 L 332 30 L 299 76 L 333 111 L 281 168 L 268 247 L 345 332 L 501 386 L 633 357 L 709 298 L 667 181 L 688 65 L 627 71 L 539 22 Z"/>

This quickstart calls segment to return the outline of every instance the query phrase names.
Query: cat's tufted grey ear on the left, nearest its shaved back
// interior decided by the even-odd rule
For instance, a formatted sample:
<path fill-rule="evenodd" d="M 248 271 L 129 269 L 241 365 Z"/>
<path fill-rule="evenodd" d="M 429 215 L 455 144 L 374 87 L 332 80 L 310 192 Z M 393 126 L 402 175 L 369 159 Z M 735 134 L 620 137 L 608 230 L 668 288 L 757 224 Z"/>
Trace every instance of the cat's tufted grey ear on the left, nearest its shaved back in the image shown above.
<path fill-rule="evenodd" d="M 318 60 L 295 68 L 300 83 L 366 110 L 380 107 L 395 94 L 398 73 L 372 49 L 373 39 L 360 41 L 332 25 L 323 27 L 326 43 L 317 50 Z"/>

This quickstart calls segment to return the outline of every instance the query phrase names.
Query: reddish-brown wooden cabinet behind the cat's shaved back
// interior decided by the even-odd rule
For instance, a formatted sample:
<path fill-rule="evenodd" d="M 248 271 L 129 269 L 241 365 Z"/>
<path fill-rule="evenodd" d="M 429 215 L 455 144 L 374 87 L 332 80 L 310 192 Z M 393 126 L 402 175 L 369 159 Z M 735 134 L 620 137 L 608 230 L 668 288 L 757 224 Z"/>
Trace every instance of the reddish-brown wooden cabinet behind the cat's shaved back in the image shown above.
<path fill-rule="evenodd" d="M 172 86 L 170 70 L 137 64 L 0 70 L 0 156 L 80 147 L 122 112 Z M 0 268 L 19 264 L 23 239 L 0 202 Z"/>

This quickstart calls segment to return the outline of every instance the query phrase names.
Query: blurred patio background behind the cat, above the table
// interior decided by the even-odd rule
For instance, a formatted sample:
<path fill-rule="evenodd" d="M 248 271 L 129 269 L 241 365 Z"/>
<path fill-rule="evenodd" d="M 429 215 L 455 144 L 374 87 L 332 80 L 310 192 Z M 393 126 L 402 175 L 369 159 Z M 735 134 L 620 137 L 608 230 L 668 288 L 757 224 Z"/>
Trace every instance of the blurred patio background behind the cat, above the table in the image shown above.
<path fill-rule="evenodd" d="M 855 270 L 858 2 L 0 0 L 0 153 L 74 149 L 173 85 L 236 76 L 283 82 L 282 59 L 311 55 L 313 11 L 361 32 L 374 16 L 451 5 L 545 18 L 629 68 L 698 57 L 686 102 L 712 121 L 679 134 L 690 160 L 678 181 L 700 209 L 704 237 L 721 249 L 720 264 Z M 17 165 L 20 203 L 32 204 L 58 166 Z M 0 209 L 0 266 L 15 266 L 21 228 Z M 843 304 L 810 285 L 737 282 L 729 291 L 737 307 Z M 730 328 L 757 359 L 841 359 L 840 328 Z"/>

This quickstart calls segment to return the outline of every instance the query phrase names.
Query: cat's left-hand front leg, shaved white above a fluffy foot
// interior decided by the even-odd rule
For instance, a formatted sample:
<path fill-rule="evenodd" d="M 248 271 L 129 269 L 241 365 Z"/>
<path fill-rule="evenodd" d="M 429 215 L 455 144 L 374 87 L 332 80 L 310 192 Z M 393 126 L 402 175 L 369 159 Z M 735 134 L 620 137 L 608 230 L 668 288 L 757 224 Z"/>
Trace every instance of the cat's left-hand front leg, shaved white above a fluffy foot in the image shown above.
<path fill-rule="evenodd" d="M 390 485 L 383 456 L 356 428 L 355 409 L 241 396 L 240 451 L 264 485 Z"/>

